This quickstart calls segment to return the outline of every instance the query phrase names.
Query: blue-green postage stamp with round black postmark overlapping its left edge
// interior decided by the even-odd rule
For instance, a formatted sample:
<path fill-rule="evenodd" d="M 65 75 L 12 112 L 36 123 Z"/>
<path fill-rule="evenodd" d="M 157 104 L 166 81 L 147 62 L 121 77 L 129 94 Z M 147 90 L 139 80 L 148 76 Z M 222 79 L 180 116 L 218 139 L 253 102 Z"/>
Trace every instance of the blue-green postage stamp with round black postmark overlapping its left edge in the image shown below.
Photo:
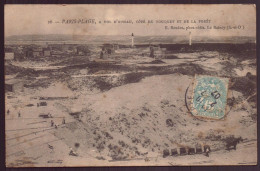
<path fill-rule="evenodd" d="M 198 76 L 186 90 L 186 106 L 199 118 L 219 120 L 225 117 L 228 78 Z"/>

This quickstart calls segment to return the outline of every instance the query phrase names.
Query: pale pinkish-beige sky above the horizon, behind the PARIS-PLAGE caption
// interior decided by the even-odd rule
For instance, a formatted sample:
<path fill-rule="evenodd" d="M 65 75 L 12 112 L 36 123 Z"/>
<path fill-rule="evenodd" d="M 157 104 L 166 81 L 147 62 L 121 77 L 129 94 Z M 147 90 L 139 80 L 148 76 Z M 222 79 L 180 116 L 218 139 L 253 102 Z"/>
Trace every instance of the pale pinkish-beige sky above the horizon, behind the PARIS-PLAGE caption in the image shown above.
<path fill-rule="evenodd" d="M 256 36 L 254 5 L 5 5 L 5 37 L 31 34 Z M 48 24 L 70 19 L 95 19 L 97 24 Z M 104 20 L 133 24 L 99 24 Z M 173 24 L 137 24 L 136 20 L 175 20 Z M 176 23 L 176 20 L 211 23 Z M 183 21 L 182 21 L 183 22 Z M 242 26 L 243 29 L 167 29 L 165 26 Z"/>

